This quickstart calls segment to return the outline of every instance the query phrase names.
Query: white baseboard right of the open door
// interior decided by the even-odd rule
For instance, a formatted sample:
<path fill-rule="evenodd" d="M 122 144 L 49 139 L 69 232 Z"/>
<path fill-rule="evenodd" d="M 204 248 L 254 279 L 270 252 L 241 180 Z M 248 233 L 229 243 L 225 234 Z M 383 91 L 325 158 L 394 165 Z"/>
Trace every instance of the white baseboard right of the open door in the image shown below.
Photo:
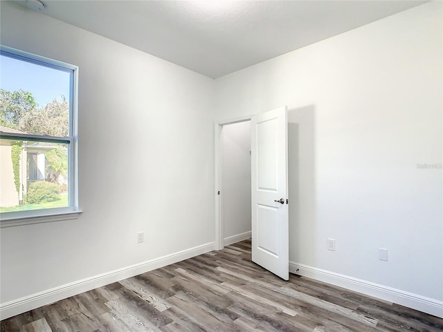
<path fill-rule="evenodd" d="M 443 301 L 438 301 L 437 299 L 408 293 L 396 288 L 374 284 L 365 280 L 348 277 L 347 275 L 340 275 L 320 268 L 313 268 L 292 261 L 289 262 L 289 272 L 296 273 L 302 277 L 316 279 L 320 282 L 326 282 L 334 286 L 347 288 L 351 291 L 356 291 L 379 299 L 384 299 L 388 302 L 401 304 L 402 306 L 407 306 L 408 308 L 413 308 L 443 318 Z"/>

